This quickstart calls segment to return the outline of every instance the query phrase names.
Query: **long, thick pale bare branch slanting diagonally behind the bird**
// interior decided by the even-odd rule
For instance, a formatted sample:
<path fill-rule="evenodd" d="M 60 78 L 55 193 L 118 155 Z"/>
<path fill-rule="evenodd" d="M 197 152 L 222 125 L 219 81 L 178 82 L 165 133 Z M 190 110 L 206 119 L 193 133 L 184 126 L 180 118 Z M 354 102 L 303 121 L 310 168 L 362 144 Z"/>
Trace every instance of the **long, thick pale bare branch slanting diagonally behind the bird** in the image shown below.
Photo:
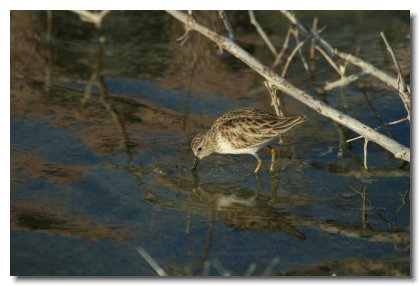
<path fill-rule="evenodd" d="M 185 13 L 179 11 L 167 11 L 167 13 L 169 13 L 184 24 L 187 22 L 188 16 Z M 374 129 L 354 119 L 353 117 L 348 116 L 347 114 L 344 114 L 343 112 L 338 111 L 333 107 L 314 99 L 306 92 L 300 90 L 299 88 L 290 84 L 284 78 L 278 76 L 274 71 L 272 71 L 270 68 L 263 65 L 260 61 L 252 57 L 248 52 L 243 50 L 236 43 L 199 24 L 194 19 L 190 21 L 190 26 L 192 30 L 197 31 L 200 34 L 207 37 L 208 39 L 212 40 L 213 42 L 216 42 L 224 50 L 228 51 L 233 56 L 240 59 L 242 62 L 251 67 L 254 71 L 259 73 L 266 80 L 270 81 L 272 85 L 277 86 L 277 88 L 282 92 L 292 96 L 296 100 L 314 109 L 319 114 L 331 118 L 335 122 L 362 135 L 367 140 L 375 142 L 376 144 L 382 146 L 384 149 L 394 154 L 396 158 L 400 158 L 410 162 L 410 149 L 406 146 L 403 146 L 397 141 L 375 131 Z"/>

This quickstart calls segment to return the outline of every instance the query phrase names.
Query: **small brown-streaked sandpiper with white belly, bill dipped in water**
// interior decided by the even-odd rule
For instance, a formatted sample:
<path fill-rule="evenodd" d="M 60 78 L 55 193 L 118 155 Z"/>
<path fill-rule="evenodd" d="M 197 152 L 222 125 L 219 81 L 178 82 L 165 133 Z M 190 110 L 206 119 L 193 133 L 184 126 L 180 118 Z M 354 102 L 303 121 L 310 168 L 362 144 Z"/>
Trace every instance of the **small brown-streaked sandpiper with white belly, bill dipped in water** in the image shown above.
<path fill-rule="evenodd" d="M 254 171 L 257 174 L 262 166 L 257 152 L 267 146 L 271 149 L 270 172 L 273 172 L 276 153 L 269 144 L 306 118 L 306 115 L 278 117 L 256 108 L 240 108 L 227 112 L 216 119 L 210 130 L 197 134 L 191 141 L 191 149 L 195 155 L 192 169 L 195 170 L 198 162 L 212 153 L 251 154 L 258 161 Z"/>

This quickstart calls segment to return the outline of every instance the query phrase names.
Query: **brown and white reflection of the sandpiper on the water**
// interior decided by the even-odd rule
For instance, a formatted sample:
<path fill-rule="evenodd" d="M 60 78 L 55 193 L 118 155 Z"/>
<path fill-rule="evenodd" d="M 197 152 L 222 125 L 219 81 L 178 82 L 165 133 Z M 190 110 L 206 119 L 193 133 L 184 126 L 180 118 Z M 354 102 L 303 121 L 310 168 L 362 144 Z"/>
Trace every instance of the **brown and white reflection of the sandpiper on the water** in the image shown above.
<path fill-rule="evenodd" d="M 205 214 L 238 230 L 284 232 L 304 240 L 305 235 L 292 225 L 287 214 L 270 205 L 271 196 L 247 189 L 227 188 L 225 185 L 201 184 L 197 172 L 194 181 L 183 177 L 159 176 L 159 184 L 176 190 L 176 197 L 159 196 L 150 192 L 146 200 L 165 208 L 181 209 L 189 213 Z"/>

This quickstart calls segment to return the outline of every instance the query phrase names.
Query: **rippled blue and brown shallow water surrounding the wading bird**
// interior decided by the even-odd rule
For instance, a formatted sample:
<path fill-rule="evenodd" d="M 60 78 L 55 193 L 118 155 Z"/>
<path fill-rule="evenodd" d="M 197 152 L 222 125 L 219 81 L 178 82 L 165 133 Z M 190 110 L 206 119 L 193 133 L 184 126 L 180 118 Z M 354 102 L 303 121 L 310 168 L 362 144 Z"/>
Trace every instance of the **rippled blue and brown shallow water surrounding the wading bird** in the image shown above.
<path fill-rule="evenodd" d="M 288 23 L 265 13 L 280 46 Z M 409 81 L 409 14 L 372 13 L 323 12 L 323 35 L 393 74 L 384 30 Z M 111 12 L 103 45 L 76 15 L 47 15 L 11 13 L 11 275 L 156 275 L 139 248 L 169 275 L 410 275 L 409 164 L 370 143 L 364 170 L 362 140 L 340 143 L 356 135 L 284 96 L 309 120 L 277 146 L 273 175 L 268 150 L 258 177 L 248 155 L 192 173 L 194 134 L 234 108 L 271 110 L 261 78 L 198 34 L 181 46 L 164 12 Z M 231 17 L 270 65 L 247 14 Z M 317 93 L 338 79 L 319 55 L 312 77 L 297 58 L 287 78 L 369 126 L 404 117 L 371 77 Z M 409 124 L 383 132 L 410 146 Z"/>

